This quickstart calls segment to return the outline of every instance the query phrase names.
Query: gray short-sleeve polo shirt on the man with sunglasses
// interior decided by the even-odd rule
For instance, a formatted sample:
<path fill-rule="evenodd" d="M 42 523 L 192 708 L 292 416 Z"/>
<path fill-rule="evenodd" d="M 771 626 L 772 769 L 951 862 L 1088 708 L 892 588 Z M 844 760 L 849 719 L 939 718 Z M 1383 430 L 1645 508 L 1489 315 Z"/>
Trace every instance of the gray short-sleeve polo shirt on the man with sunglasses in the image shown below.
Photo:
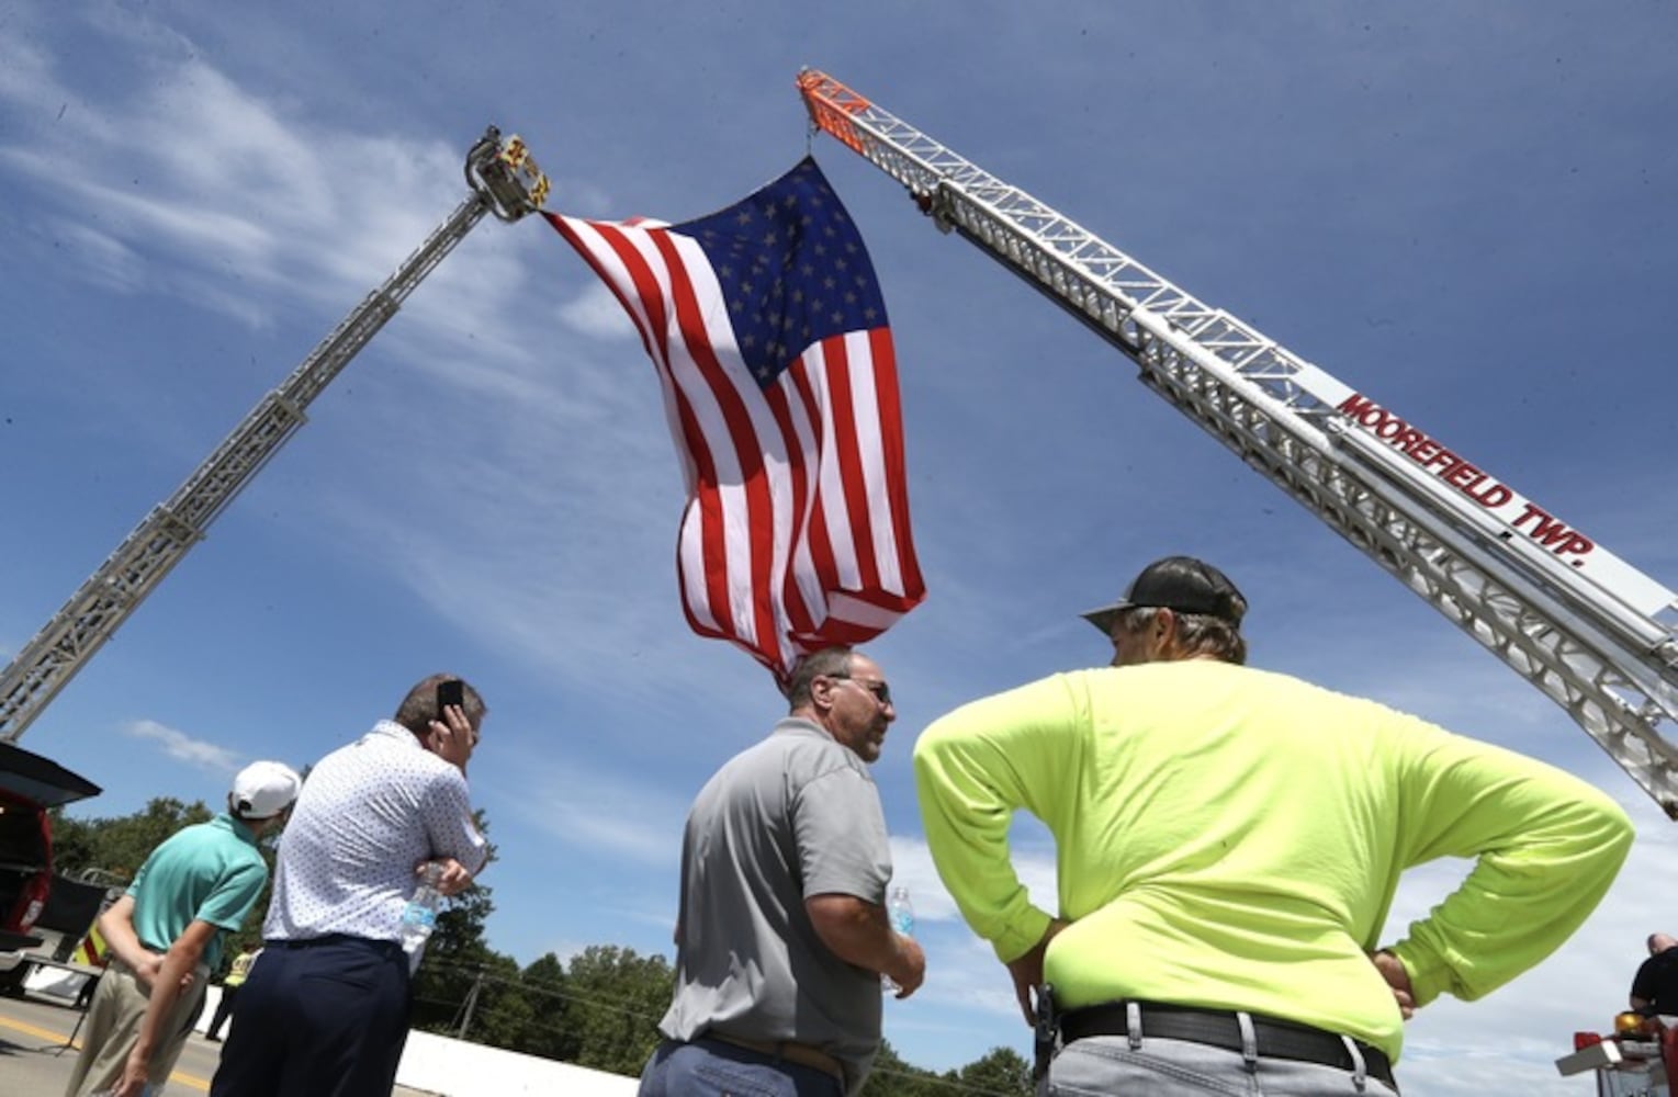
<path fill-rule="evenodd" d="M 807 720 L 782 720 L 700 790 L 681 845 L 676 995 L 659 1030 L 795 1040 L 862 1087 L 879 1050 L 879 976 L 822 944 L 821 894 L 884 902 L 891 849 L 868 765 Z"/>

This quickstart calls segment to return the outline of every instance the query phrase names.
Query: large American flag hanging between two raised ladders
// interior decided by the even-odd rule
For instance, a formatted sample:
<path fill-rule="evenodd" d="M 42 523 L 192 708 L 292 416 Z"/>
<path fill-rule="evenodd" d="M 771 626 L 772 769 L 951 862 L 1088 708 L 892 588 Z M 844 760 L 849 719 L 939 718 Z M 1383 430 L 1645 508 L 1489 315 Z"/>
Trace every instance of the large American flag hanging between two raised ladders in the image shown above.
<path fill-rule="evenodd" d="M 658 367 L 688 503 L 688 624 L 777 679 L 925 597 L 886 304 L 816 161 L 681 225 L 545 215 Z"/>

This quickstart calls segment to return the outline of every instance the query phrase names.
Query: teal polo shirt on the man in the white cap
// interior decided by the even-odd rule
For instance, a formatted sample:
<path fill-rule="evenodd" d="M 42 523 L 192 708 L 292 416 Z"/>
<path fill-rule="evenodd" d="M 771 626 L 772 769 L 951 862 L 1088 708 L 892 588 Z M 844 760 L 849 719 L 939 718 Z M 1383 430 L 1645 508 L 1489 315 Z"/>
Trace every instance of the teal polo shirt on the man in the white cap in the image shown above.
<path fill-rule="evenodd" d="M 257 835 L 221 812 L 175 832 L 139 866 L 128 887 L 134 897 L 134 934 L 163 953 L 195 921 L 237 931 L 267 881 Z M 210 941 L 203 961 L 211 971 L 221 963 L 221 934 Z"/>

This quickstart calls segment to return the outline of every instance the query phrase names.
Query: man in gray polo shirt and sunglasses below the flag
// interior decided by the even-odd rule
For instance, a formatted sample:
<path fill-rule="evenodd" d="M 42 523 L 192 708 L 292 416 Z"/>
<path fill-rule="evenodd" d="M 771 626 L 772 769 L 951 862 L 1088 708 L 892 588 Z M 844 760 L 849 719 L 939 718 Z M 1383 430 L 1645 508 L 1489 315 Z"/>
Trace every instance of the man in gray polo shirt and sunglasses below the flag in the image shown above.
<path fill-rule="evenodd" d="M 886 819 L 868 763 L 896 718 L 859 651 L 807 656 L 790 713 L 700 790 L 681 845 L 676 995 L 641 1097 L 834 1097 L 879 1050 L 881 985 L 908 998 L 926 958 L 893 933 Z M 710 1092 L 710 1090 L 705 1090 Z"/>

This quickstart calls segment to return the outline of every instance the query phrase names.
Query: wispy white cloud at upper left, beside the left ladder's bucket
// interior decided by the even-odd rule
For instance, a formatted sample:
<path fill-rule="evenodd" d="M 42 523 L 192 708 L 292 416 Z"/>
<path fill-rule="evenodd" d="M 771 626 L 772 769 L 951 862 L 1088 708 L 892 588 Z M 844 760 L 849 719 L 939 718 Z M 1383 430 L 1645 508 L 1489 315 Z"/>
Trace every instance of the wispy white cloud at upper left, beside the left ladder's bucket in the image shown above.
<path fill-rule="evenodd" d="M 72 258 L 84 277 L 247 324 L 272 324 L 285 302 L 359 299 L 425 238 L 448 208 L 446 181 L 460 178 L 453 149 L 287 117 L 196 50 L 153 59 L 151 79 L 121 101 L 62 114 L 49 112 L 77 96 L 59 60 L 27 45 L 5 57 L 32 79 L 0 82 L 0 94 L 50 124 L 0 156 L 79 215 Z M 81 169 L 67 176 L 72 151 Z M 122 260 L 114 272 L 112 257 Z"/>

